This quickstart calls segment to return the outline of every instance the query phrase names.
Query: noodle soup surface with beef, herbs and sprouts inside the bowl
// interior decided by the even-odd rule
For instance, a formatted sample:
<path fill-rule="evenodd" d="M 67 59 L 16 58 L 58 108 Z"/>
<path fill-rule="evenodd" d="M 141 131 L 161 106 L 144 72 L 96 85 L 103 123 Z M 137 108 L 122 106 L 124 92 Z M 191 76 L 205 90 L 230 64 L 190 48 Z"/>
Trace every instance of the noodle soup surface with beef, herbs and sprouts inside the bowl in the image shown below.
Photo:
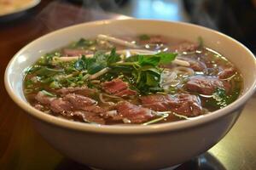
<path fill-rule="evenodd" d="M 201 38 L 98 35 L 44 54 L 27 69 L 24 94 L 39 111 L 69 120 L 148 125 L 216 111 L 241 86 L 236 67 Z"/>

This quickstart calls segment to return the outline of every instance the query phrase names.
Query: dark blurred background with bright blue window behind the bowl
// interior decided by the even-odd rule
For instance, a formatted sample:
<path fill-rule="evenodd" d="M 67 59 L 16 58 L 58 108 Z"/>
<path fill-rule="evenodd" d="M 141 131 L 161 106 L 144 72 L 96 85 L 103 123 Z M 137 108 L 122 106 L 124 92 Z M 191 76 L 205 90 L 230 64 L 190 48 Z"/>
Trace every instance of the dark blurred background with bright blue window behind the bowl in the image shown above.
<path fill-rule="evenodd" d="M 69 0 L 140 19 L 191 22 L 224 32 L 256 52 L 256 0 Z"/>

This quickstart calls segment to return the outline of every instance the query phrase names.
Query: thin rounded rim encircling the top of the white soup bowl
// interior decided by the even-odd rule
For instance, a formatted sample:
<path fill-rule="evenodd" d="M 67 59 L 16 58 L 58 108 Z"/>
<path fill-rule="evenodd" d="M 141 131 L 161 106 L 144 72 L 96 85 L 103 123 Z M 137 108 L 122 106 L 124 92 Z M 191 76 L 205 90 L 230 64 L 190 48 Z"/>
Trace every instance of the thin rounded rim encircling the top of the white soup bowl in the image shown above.
<path fill-rule="evenodd" d="M 92 21 L 92 22 L 86 22 L 79 25 L 74 26 L 68 26 L 65 28 L 62 28 L 60 30 L 49 32 L 48 34 L 38 37 L 37 39 L 33 40 L 32 42 L 28 43 L 25 47 L 21 48 L 19 52 L 17 52 L 12 59 L 10 59 L 9 64 L 6 67 L 5 74 L 4 74 L 4 84 L 5 88 L 11 97 L 15 101 L 17 105 L 20 106 L 24 111 L 26 111 L 30 116 L 38 118 L 40 121 L 47 122 L 51 125 L 55 125 L 57 127 L 65 127 L 68 129 L 78 130 L 82 132 L 91 132 L 91 133 L 118 133 L 118 134 L 135 134 L 135 133 L 160 133 L 160 132 L 171 132 L 171 131 L 177 131 L 188 127 L 195 127 L 202 124 L 205 124 L 207 122 L 212 122 L 214 120 L 217 120 L 220 117 L 228 115 L 232 111 L 236 111 L 239 109 L 242 105 L 244 105 L 249 99 L 255 89 L 256 89 L 256 79 L 253 80 L 253 84 L 251 87 L 247 89 L 247 92 L 245 94 L 242 94 L 239 99 L 236 99 L 235 102 L 231 103 L 230 105 L 227 105 L 223 109 L 220 109 L 218 111 L 213 111 L 211 113 L 208 113 L 204 116 L 197 116 L 190 120 L 182 120 L 177 122 L 166 122 L 166 123 L 159 123 L 159 124 L 152 124 L 147 126 L 142 125 L 131 125 L 131 126 L 124 126 L 124 125 L 95 125 L 95 124 L 88 124 L 84 122 L 73 122 L 66 119 L 62 119 L 60 117 L 51 116 L 48 114 L 45 114 L 43 111 L 38 111 L 32 105 L 29 105 L 28 102 L 20 99 L 16 96 L 15 91 L 13 88 L 11 88 L 10 82 L 9 82 L 9 71 L 11 70 L 11 66 L 15 62 L 15 59 L 19 58 L 20 54 L 23 53 L 27 48 L 30 48 L 34 42 L 42 41 L 44 39 L 47 39 L 48 37 L 53 36 L 55 33 L 61 33 L 62 31 L 67 30 L 73 30 L 80 26 L 88 26 L 88 25 L 108 25 L 113 22 L 125 22 L 125 21 L 132 21 L 132 22 L 166 22 L 166 23 L 172 23 L 175 25 L 183 25 L 183 26 L 192 26 L 197 29 L 202 29 L 205 31 L 210 31 L 214 34 L 218 34 L 219 36 L 225 37 L 230 39 L 231 42 L 237 43 L 240 45 L 248 54 L 248 57 L 251 57 L 254 59 L 254 65 L 256 67 L 256 59 L 254 58 L 253 53 L 245 47 L 241 42 L 236 41 L 234 38 L 229 37 L 227 35 L 224 35 L 221 32 L 214 31 L 212 29 L 206 28 L 204 26 L 197 26 L 190 23 L 184 23 L 184 22 L 177 22 L 177 21 L 166 21 L 166 20 L 139 20 L 139 19 L 125 19 L 125 20 L 98 20 L 98 21 Z M 254 73 L 256 74 L 256 73 Z"/>

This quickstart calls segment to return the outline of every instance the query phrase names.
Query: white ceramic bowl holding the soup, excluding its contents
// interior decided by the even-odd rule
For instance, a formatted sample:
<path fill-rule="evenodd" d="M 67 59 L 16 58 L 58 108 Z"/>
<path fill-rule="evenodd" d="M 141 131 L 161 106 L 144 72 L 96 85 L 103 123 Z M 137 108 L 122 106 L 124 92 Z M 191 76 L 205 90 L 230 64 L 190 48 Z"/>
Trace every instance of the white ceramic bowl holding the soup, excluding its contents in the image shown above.
<path fill-rule="evenodd" d="M 207 47 L 224 54 L 239 68 L 244 77 L 243 93 L 224 109 L 193 120 L 128 127 L 71 122 L 47 115 L 26 102 L 22 92 L 26 67 L 46 52 L 100 33 L 160 34 L 192 42 L 201 36 Z M 240 42 L 205 27 L 159 20 L 102 20 L 54 31 L 22 48 L 5 72 L 5 87 L 10 97 L 32 117 L 44 139 L 75 161 L 106 169 L 170 167 L 205 152 L 236 122 L 242 105 L 253 94 L 255 80 L 254 56 Z"/>

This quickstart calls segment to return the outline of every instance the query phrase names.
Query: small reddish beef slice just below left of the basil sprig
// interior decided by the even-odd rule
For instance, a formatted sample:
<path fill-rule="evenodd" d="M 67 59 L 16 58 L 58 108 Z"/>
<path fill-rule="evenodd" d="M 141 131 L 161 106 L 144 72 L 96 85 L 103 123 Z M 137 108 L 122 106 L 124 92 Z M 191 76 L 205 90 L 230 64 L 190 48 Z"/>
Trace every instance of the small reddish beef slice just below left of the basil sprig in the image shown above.
<path fill-rule="evenodd" d="M 137 94 L 136 91 L 131 90 L 128 86 L 127 82 L 122 81 L 121 79 L 117 78 L 110 82 L 103 82 L 102 88 L 108 94 L 113 94 L 119 97 L 124 97 L 127 95 L 135 95 Z"/>

